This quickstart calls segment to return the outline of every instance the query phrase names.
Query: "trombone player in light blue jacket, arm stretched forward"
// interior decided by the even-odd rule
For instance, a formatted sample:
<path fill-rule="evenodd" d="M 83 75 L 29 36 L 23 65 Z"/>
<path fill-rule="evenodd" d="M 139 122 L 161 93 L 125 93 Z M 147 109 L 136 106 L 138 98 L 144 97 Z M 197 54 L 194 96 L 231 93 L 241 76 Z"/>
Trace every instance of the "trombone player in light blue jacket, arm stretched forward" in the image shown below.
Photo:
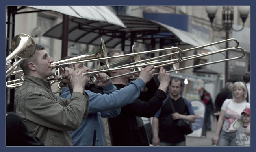
<path fill-rule="evenodd" d="M 70 57 L 66 57 L 68 59 Z M 96 86 L 104 86 L 104 93 L 94 93 L 90 90 L 85 90 L 89 95 L 89 114 L 86 119 L 82 120 L 81 125 L 77 130 L 71 131 L 72 143 L 75 146 L 82 145 L 96 145 L 106 146 L 106 138 L 102 117 L 115 117 L 120 114 L 120 108 L 126 104 L 132 103 L 137 99 L 145 84 L 150 81 L 154 76 L 154 66 L 147 66 L 140 72 L 139 78 L 121 89 L 113 85 L 111 80 L 107 80 L 108 75 L 105 73 L 99 74 L 99 79 L 102 82 L 95 81 Z M 72 66 L 70 66 L 72 68 Z M 83 63 L 75 64 L 76 69 L 83 69 L 89 71 L 89 69 L 83 65 Z M 71 97 L 69 88 L 64 88 L 61 96 L 66 99 Z"/>

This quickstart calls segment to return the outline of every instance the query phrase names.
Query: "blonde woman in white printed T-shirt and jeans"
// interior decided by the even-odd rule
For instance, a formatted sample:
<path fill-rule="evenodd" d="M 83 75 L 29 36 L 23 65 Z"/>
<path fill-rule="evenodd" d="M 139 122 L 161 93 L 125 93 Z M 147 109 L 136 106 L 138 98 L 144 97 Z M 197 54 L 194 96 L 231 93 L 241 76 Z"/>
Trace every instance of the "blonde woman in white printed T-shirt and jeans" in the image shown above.
<path fill-rule="evenodd" d="M 250 108 L 246 102 L 247 90 L 243 82 L 235 82 L 232 87 L 233 99 L 226 99 L 221 106 L 213 143 L 219 146 L 235 146 L 236 130 L 243 125 L 241 113 Z M 250 125 L 247 127 L 250 134 Z"/>

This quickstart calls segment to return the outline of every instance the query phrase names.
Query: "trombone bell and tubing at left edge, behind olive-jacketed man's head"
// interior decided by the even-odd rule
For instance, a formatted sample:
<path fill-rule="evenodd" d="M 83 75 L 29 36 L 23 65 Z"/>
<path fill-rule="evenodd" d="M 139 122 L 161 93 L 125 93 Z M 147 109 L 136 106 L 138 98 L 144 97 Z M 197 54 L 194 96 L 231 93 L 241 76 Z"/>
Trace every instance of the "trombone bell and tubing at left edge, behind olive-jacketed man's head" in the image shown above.
<path fill-rule="evenodd" d="M 6 70 L 6 77 L 11 75 L 13 71 L 22 63 L 24 59 L 28 59 L 35 53 L 35 42 L 34 40 L 26 35 L 16 35 L 11 41 L 11 49 L 13 52 L 6 57 L 6 62 L 11 59 L 15 59 L 15 62 Z M 17 58 L 20 58 L 19 60 Z"/>

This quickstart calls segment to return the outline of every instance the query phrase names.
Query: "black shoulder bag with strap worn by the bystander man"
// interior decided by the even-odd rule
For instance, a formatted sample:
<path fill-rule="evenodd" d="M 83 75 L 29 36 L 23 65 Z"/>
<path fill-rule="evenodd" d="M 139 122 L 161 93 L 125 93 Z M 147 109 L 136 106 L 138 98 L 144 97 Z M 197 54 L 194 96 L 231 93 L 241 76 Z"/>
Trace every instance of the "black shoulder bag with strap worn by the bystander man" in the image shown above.
<path fill-rule="evenodd" d="M 170 98 L 171 99 L 171 98 Z M 183 98 L 182 98 L 183 99 Z M 184 99 L 183 99 L 184 100 Z M 187 103 L 186 101 L 184 100 L 184 103 L 185 103 L 185 106 L 187 108 Z M 175 113 L 175 109 L 174 109 L 174 106 L 173 106 L 173 101 L 170 100 L 170 104 L 171 104 L 171 108 L 172 108 L 172 111 L 173 113 Z M 190 134 L 191 132 L 193 132 L 193 128 L 192 128 L 192 125 L 191 123 L 189 123 L 187 120 L 185 119 L 178 119 L 176 120 L 176 129 L 181 132 L 182 134 L 184 135 L 187 135 L 187 134 Z"/>

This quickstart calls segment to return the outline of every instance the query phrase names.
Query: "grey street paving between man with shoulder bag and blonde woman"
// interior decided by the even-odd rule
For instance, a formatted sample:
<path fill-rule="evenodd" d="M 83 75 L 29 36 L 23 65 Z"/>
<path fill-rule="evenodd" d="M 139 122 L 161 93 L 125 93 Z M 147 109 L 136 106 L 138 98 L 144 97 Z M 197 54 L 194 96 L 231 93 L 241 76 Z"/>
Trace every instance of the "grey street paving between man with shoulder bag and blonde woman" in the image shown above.
<path fill-rule="evenodd" d="M 187 146 L 212 146 L 212 138 L 215 134 L 217 120 L 211 117 L 211 131 L 206 132 L 206 136 L 186 137 Z"/>

